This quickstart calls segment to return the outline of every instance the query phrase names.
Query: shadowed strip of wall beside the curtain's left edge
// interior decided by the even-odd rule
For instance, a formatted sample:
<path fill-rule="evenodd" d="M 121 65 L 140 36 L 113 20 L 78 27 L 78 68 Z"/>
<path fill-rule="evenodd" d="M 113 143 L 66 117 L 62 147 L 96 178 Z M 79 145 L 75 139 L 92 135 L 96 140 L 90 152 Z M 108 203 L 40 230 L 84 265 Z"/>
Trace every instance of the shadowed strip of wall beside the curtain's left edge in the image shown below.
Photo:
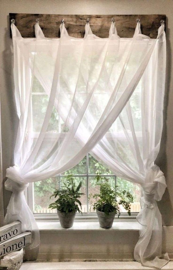
<path fill-rule="evenodd" d="M 2 177 L 4 195 L 4 215 L 11 197 L 11 192 L 5 190 L 6 168 L 13 166 L 13 153 L 15 138 L 18 128 L 18 116 L 16 113 L 13 82 L 13 46 L 9 33 L 9 16 L 7 16 L 7 28 L 4 29 L 5 50 L 2 53 L 2 89 L 1 89 L 1 132 L 2 132 Z"/>

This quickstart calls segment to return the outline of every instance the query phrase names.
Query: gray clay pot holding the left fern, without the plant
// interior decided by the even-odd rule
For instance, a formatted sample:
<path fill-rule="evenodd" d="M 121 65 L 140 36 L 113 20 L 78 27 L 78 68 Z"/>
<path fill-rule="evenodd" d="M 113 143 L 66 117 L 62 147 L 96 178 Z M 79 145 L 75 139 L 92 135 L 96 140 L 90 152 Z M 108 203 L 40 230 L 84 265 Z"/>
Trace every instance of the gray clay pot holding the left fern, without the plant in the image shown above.
<path fill-rule="evenodd" d="M 68 212 L 68 213 L 63 213 L 57 210 L 57 214 L 59 217 L 59 221 L 61 224 L 61 227 L 67 229 L 71 228 L 73 226 L 74 218 L 76 216 L 76 212 Z"/>

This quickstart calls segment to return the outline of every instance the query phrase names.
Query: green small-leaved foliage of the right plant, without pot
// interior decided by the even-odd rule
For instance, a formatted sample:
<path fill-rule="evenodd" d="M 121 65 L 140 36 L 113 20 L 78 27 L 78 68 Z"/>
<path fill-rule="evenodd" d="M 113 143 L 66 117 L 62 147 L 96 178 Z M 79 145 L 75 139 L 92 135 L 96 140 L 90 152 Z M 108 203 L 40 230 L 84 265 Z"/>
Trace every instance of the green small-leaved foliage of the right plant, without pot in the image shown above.
<path fill-rule="evenodd" d="M 93 210 L 98 210 L 100 212 L 104 212 L 106 215 L 114 212 L 118 214 L 118 218 L 120 216 L 120 207 L 119 205 L 123 205 L 125 210 L 127 210 L 128 215 L 131 215 L 130 212 L 130 204 L 133 203 L 133 196 L 128 191 L 118 191 L 116 186 L 112 188 L 108 183 L 108 179 L 106 177 L 101 177 L 100 174 L 95 176 L 96 184 L 100 186 L 100 193 L 90 195 L 89 200 L 91 203 L 91 207 Z M 117 202 L 117 197 L 120 200 Z M 92 202 L 92 198 L 94 202 Z"/>

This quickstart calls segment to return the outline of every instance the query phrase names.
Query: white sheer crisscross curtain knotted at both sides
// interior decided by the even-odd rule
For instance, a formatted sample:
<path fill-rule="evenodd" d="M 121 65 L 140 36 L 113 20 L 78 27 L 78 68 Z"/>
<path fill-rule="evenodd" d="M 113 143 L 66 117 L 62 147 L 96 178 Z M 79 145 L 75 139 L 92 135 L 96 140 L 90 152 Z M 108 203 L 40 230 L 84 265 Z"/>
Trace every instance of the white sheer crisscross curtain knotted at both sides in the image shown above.
<path fill-rule="evenodd" d="M 117 176 L 142 186 L 134 257 L 161 268 L 169 258 L 161 254 L 162 220 L 156 200 L 161 200 L 166 184 L 154 161 L 162 133 L 164 24 L 157 39 L 142 35 L 140 23 L 133 38 L 120 38 L 114 23 L 108 38 L 93 35 L 89 23 L 83 39 L 70 37 L 64 24 L 60 39 L 45 38 L 38 23 L 35 39 L 22 38 L 14 24 L 11 28 L 19 128 L 15 165 L 6 173 L 5 187 L 13 193 L 5 223 L 21 220 L 22 230 L 33 232 L 30 248 L 38 246 L 38 227 L 23 191 L 28 182 L 56 176 L 90 152 Z M 39 124 L 32 108 L 38 83 L 46 104 Z M 55 112 L 61 122 L 52 117 Z"/>

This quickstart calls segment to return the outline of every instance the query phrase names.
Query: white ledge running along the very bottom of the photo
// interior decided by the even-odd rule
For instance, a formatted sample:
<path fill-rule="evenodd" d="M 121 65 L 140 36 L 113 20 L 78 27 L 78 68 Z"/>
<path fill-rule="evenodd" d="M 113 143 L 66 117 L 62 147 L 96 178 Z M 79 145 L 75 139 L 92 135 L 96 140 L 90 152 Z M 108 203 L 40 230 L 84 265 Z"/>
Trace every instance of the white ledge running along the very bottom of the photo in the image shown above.
<path fill-rule="evenodd" d="M 168 262 L 162 270 L 172 270 Z M 25 262 L 20 270 L 153 270 L 138 262 Z"/>

